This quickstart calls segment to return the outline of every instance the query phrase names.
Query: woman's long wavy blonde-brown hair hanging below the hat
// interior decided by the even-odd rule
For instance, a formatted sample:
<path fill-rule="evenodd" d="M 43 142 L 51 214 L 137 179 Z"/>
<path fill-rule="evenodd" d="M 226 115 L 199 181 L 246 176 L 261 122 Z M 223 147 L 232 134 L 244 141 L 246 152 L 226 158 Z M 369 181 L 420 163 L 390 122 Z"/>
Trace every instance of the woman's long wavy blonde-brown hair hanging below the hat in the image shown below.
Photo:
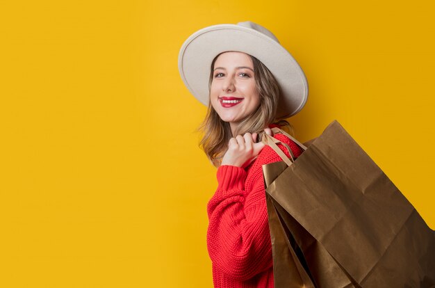
<path fill-rule="evenodd" d="M 249 54 L 248 54 L 249 55 Z M 210 79 L 208 83 L 208 90 L 210 90 L 211 82 L 213 81 L 213 68 L 218 54 L 211 63 Z M 243 119 L 238 125 L 234 135 L 231 133 L 229 122 L 224 122 L 220 119 L 213 106 L 208 104 L 206 118 L 199 127 L 199 131 L 204 133 L 199 146 L 206 153 L 208 159 L 214 166 L 220 166 L 222 157 L 228 149 L 229 139 L 236 135 L 243 135 L 247 132 L 258 133 L 268 127 L 272 123 L 277 123 L 279 126 L 284 126 L 286 130 L 293 134 L 293 127 L 286 121 L 277 121 L 277 106 L 281 91 L 277 80 L 272 75 L 261 61 L 254 56 L 249 55 L 254 65 L 254 78 L 258 95 L 260 95 L 260 105 L 258 109 Z"/>

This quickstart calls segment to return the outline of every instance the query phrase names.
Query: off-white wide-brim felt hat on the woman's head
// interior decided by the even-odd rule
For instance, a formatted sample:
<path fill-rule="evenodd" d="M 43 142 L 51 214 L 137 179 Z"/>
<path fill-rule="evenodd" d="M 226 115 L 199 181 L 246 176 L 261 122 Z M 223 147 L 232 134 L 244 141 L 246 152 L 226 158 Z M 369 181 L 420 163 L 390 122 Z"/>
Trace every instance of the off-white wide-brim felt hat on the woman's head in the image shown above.
<path fill-rule="evenodd" d="M 208 106 L 211 63 L 225 51 L 252 55 L 272 72 L 281 88 L 277 118 L 288 118 L 304 107 L 308 98 L 304 71 L 268 29 L 249 21 L 208 26 L 190 35 L 181 46 L 181 79 L 199 102 Z"/>

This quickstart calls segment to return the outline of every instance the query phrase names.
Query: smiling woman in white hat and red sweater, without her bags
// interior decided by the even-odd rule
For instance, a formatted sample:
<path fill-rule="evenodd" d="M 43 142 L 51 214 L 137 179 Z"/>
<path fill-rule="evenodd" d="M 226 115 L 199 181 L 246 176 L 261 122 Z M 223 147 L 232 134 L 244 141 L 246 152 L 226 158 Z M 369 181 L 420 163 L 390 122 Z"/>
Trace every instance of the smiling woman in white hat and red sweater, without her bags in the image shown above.
<path fill-rule="evenodd" d="M 217 167 L 207 247 L 215 287 L 273 287 L 262 166 L 281 161 L 258 141 L 306 103 L 304 72 L 277 38 L 252 22 L 206 27 L 179 54 L 181 78 L 208 113 L 201 145 Z M 208 85 L 207 85 L 208 83 Z M 276 134 L 298 157 L 302 150 Z M 290 157 L 284 145 L 281 150 Z"/>

